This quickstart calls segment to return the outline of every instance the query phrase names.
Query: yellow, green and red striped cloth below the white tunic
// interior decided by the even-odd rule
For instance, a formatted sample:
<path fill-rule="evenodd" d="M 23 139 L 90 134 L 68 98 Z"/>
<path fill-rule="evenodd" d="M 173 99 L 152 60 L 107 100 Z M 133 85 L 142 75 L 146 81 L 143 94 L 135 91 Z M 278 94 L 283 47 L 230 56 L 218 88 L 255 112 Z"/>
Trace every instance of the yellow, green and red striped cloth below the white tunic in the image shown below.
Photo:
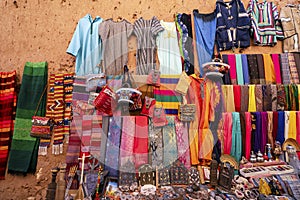
<path fill-rule="evenodd" d="M 162 104 L 166 114 L 177 115 L 182 96 L 175 92 L 180 75 L 161 75 L 160 87 L 154 87 L 153 93 L 156 104 Z"/>

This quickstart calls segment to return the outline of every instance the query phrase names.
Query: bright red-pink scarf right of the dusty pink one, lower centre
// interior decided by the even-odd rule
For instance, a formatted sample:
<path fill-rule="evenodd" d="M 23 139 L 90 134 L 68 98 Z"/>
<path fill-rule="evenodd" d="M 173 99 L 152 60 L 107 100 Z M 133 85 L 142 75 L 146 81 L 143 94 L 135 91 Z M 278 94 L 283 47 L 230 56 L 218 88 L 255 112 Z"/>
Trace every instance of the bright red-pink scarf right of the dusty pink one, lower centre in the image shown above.
<path fill-rule="evenodd" d="M 134 160 L 136 169 L 148 163 L 148 117 L 135 117 Z"/>

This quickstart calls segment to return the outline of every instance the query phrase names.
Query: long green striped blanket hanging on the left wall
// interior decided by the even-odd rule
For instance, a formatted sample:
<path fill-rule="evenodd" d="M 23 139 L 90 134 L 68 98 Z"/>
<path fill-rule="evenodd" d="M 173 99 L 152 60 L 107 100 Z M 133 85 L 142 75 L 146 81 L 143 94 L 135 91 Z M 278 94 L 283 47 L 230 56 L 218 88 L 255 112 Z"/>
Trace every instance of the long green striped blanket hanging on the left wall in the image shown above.
<path fill-rule="evenodd" d="M 46 62 L 25 64 L 8 161 L 8 171 L 11 173 L 28 173 L 36 170 L 39 140 L 30 136 L 31 119 L 47 85 L 47 79 Z M 41 99 L 36 115 L 45 116 L 45 108 L 46 95 Z"/>

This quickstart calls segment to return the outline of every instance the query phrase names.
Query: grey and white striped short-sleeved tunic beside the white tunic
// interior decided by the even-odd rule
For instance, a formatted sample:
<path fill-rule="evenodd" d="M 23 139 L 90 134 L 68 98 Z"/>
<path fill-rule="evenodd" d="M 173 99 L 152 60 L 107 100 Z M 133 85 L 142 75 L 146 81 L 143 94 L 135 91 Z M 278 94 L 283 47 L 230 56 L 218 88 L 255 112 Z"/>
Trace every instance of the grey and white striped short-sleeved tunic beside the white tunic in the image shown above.
<path fill-rule="evenodd" d="M 137 37 L 136 74 L 147 75 L 150 69 L 156 68 L 156 36 L 163 31 L 159 20 L 154 16 L 150 20 L 142 17 L 134 22 L 134 33 Z"/>

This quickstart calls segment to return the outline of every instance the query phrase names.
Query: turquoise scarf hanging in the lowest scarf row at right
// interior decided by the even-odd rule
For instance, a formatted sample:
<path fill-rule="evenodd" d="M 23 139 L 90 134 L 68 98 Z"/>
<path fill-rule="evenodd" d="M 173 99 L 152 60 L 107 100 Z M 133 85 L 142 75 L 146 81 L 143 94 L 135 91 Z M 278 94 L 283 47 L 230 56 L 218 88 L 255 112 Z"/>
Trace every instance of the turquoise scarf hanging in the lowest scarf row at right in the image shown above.
<path fill-rule="evenodd" d="M 230 155 L 235 158 L 237 162 L 240 162 L 242 158 L 242 132 L 240 113 L 232 113 L 232 144 Z"/>

